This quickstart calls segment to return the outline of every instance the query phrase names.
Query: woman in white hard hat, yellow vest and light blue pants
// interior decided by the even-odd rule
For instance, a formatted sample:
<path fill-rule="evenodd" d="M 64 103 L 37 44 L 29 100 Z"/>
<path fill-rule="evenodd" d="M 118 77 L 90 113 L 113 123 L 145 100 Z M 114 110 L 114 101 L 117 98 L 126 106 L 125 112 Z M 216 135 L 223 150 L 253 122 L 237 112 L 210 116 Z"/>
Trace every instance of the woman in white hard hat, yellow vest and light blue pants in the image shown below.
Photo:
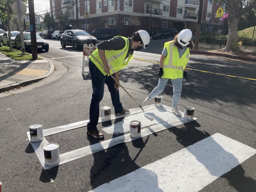
<path fill-rule="evenodd" d="M 193 48 L 191 38 L 191 30 L 184 29 L 174 37 L 173 41 L 165 43 L 160 58 L 158 85 L 145 99 L 143 106 L 146 106 L 152 98 L 162 93 L 166 83 L 171 79 L 173 84 L 172 113 L 181 115 L 177 106 L 182 90 L 182 77 L 187 80 L 186 66 L 190 56 L 189 50 Z"/>

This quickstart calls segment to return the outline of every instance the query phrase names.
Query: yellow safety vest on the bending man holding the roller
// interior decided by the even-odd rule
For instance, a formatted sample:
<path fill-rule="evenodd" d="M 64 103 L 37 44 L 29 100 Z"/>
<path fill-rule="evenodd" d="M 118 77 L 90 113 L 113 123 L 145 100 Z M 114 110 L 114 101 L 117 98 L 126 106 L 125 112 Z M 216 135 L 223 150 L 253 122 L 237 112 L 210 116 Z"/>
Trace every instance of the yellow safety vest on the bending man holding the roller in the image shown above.
<path fill-rule="evenodd" d="M 117 36 L 120 37 L 120 36 Z M 130 60 L 133 59 L 133 54 L 131 55 L 129 53 L 128 59 L 125 61 L 125 57 L 127 55 L 127 52 L 129 51 L 129 39 L 126 37 L 122 37 L 125 40 L 125 46 L 121 50 L 105 50 L 105 57 L 107 59 L 108 66 L 110 68 L 110 73 L 113 74 L 120 69 L 123 69 L 127 66 L 127 64 L 130 62 Z M 101 64 L 103 65 L 103 62 L 100 58 L 99 51 L 96 49 L 92 52 L 92 55 L 98 59 Z M 103 75 L 107 75 L 105 73 L 104 68 L 101 67 L 101 65 L 92 57 L 90 56 L 91 61 L 100 69 L 100 71 L 103 73 Z"/>

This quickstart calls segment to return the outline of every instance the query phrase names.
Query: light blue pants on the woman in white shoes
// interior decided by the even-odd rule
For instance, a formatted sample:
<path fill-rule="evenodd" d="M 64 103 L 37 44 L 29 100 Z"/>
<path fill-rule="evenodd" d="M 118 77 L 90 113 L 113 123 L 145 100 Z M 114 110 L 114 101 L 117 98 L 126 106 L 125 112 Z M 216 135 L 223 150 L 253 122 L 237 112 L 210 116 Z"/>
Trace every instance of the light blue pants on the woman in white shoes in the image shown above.
<path fill-rule="evenodd" d="M 166 78 L 159 78 L 158 85 L 153 89 L 153 91 L 149 94 L 149 98 L 153 99 L 155 96 L 162 93 L 165 89 L 165 85 L 168 82 L 169 79 Z M 171 79 L 171 82 L 173 84 L 173 99 L 172 99 L 172 105 L 173 107 L 178 106 L 181 90 L 182 90 L 182 78 L 177 79 Z"/>

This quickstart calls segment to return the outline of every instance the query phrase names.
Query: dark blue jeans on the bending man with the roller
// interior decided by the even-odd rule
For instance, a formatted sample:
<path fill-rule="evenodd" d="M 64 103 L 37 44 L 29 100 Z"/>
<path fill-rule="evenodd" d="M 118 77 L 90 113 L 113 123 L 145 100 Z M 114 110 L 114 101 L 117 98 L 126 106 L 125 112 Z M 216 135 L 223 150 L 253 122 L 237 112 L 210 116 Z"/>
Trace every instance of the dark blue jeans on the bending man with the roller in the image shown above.
<path fill-rule="evenodd" d="M 96 126 L 100 115 L 100 102 L 103 98 L 105 83 L 108 86 L 115 113 L 122 112 L 123 106 L 119 99 L 119 91 L 114 88 L 115 80 L 113 80 L 111 76 L 103 75 L 98 67 L 91 61 L 89 61 L 89 70 L 91 73 L 92 98 L 90 105 L 90 121 L 87 124 L 87 130 L 94 131 L 97 129 Z"/>

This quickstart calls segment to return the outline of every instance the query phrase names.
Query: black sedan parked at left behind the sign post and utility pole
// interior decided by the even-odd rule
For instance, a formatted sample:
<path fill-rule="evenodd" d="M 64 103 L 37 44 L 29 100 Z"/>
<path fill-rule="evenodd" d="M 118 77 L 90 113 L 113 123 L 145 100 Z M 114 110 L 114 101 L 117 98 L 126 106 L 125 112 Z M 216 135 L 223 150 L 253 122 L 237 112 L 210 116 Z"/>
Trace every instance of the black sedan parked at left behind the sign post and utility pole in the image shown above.
<path fill-rule="evenodd" d="M 23 33 L 23 37 L 24 37 L 25 50 L 26 51 L 28 51 L 28 50 L 31 51 L 30 32 Z M 44 40 L 37 33 L 36 33 L 36 37 L 37 37 L 37 50 L 43 50 L 44 49 L 45 51 L 48 51 L 49 50 L 48 42 L 46 40 Z M 21 48 L 20 33 L 15 37 L 14 43 L 15 43 L 15 48 L 19 50 Z"/>

